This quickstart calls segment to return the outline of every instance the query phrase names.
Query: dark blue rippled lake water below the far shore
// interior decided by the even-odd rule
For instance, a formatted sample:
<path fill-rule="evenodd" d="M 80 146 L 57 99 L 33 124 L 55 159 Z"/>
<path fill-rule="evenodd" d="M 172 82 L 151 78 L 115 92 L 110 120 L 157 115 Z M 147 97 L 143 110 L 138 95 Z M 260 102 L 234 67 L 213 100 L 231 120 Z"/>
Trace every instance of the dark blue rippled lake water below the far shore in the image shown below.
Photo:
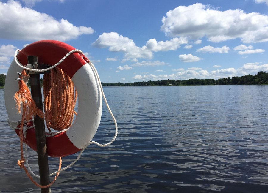
<path fill-rule="evenodd" d="M 60 173 L 52 192 L 268 192 L 268 86 L 105 87 L 119 134 L 90 145 Z M 8 127 L 0 89 L 0 192 L 40 192 L 17 166 L 19 138 Z M 103 106 L 93 140 L 109 142 Z M 77 154 L 63 158 L 63 167 Z M 29 162 L 38 171 L 36 153 Z M 50 172 L 58 159 L 49 158 Z M 38 173 L 37 173 L 38 174 Z M 51 178 L 52 179 L 52 178 Z"/>

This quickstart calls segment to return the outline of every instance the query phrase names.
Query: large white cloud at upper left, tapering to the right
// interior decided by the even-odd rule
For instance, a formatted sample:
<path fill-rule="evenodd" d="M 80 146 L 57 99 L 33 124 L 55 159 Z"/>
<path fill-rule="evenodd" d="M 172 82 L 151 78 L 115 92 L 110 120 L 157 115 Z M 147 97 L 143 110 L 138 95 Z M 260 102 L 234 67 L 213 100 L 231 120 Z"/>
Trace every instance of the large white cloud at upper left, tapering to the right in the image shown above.
<path fill-rule="evenodd" d="M 0 2 L 0 38 L 19 40 L 57 39 L 66 41 L 93 34 L 91 27 L 74 26 L 68 20 L 22 7 L 18 1 Z"/>

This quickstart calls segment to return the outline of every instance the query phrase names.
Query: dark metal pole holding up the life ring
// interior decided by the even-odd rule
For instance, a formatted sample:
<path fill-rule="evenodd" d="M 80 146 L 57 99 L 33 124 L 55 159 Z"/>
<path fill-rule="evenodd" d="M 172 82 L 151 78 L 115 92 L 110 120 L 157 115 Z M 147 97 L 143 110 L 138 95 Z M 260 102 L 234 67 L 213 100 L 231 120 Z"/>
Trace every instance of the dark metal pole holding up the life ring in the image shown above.
<path fill-rule="evenodd" d="M 37 56 L 28 56 L 29 64 L 37 64 Z M 30 84 L 32 99 L 35 101 L 35 105 L 43 112 L 43 101 L 40 86 L 40 75 L 39 73 L 30 74 Z M 40 184 L 46 186 L 50 183 L 49 181 L 49 166 L 47 159 L 47 148 L 46 148 L 46 132 L 44 120 L 39 116 L 34 116 L 35 123 L 35 136 L 37 144 L 37 156 L 38 166 L 40 175 Z M 41 188 L 42 193 L 50 193 L 50 187 Z"/>

